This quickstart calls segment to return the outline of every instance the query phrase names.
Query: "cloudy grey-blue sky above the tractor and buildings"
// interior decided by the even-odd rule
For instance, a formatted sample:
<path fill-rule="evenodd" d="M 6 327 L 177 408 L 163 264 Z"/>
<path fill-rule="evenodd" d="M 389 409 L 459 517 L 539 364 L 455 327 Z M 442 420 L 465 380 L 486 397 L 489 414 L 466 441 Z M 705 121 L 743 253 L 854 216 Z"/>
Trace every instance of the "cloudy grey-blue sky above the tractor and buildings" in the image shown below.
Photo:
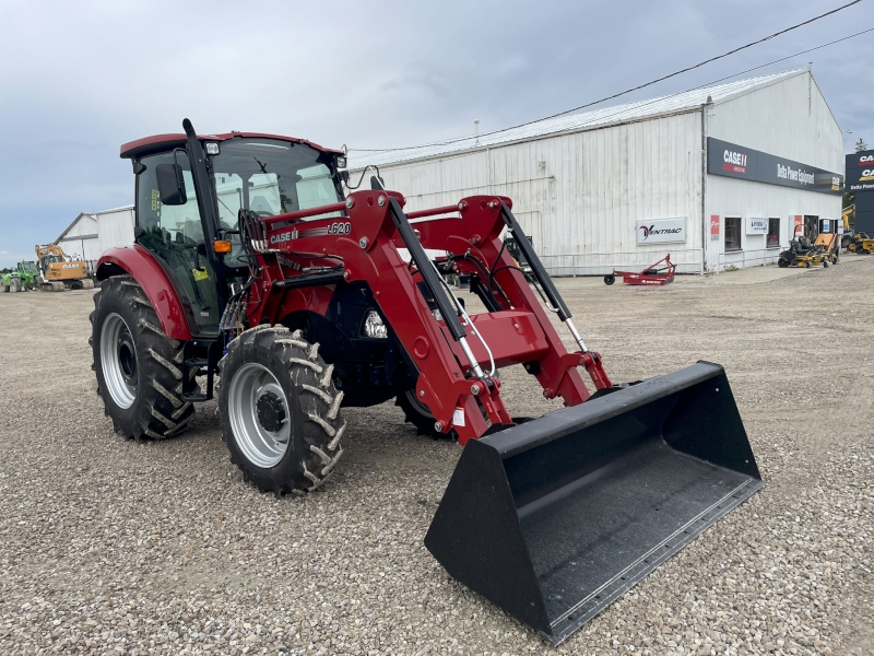
<path fill-rule="evenodd" d="M 130 204 L 119 145 L 185 117 L 201 133 L 415 145 L 578 106 L 842 3 L 0 0 L 0 267 L 33 259 L 81 211 Z M 613 104 L 866 27 L 874 0 Z M 751 75 L 808 61 L 853 132 L 846 150 L 874 147 L 874 32 Z"/>

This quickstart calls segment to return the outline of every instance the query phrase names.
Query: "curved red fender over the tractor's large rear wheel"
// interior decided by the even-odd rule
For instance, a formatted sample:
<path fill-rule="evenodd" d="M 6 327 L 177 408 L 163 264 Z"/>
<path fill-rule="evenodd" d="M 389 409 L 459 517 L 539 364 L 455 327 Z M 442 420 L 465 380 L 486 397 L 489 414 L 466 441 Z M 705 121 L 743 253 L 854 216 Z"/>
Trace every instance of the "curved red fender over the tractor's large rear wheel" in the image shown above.
<path fill-rule="evenodd" d="M 97 280 L 129 273 L 143 288 L 157 313 L 161 327 L 168 337 L 191 341 L 185 309 L 164 269 L 155 257 L 140 245 L 110 248 L 97 262 Z"/>

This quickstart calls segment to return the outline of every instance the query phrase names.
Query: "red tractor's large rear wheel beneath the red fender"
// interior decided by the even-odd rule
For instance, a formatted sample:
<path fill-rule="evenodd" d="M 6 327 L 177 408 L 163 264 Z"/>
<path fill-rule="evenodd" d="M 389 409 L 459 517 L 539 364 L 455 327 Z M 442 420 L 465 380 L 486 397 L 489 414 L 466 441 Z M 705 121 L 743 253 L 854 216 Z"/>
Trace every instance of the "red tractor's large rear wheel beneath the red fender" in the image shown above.
<path fill-rule="evenodd" d="M 142 288 L 130 276 L 108 279 L 88 318 L 97 394 L 115 431 L 137 442 L 181 433 L 194 415 L 181 397 L 185 342 L 167 337 Z"/>

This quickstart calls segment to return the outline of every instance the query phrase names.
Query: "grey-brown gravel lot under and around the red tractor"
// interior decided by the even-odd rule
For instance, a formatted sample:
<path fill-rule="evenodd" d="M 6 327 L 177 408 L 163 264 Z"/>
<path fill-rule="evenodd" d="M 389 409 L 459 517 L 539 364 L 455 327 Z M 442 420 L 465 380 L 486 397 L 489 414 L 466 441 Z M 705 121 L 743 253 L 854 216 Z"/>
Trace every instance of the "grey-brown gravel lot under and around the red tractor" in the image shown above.
<path fill-rule="evenodd" d="M 0 294 L 0 654 L 874 654 L 874 257 L 558 281 L 613 379 L 723 364 L 767 485 L 557 648 L 422 540 L 460 454 L 347 409 L 307 499 L 220 438 L 126 443 L 94 394 L 91 292 Z M 511 411 L 554 408 L 505 370 Z"/>

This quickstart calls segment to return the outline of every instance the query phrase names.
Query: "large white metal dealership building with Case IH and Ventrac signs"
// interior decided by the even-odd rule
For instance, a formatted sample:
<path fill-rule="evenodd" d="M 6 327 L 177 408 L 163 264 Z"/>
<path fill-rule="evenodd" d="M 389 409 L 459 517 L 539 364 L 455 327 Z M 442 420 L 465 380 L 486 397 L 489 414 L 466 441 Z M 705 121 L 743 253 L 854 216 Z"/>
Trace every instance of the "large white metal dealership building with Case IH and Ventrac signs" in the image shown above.
<path fill-rule="evenodd" d="M 669 251 L 684 272 L 773 262 L 796 223 L 837 230 L 841 210 L 842 133 L 806 68 L 354 155 L 352 179 L 376 164 L 409 211 L 509 196 L 557 276 Z"/>

